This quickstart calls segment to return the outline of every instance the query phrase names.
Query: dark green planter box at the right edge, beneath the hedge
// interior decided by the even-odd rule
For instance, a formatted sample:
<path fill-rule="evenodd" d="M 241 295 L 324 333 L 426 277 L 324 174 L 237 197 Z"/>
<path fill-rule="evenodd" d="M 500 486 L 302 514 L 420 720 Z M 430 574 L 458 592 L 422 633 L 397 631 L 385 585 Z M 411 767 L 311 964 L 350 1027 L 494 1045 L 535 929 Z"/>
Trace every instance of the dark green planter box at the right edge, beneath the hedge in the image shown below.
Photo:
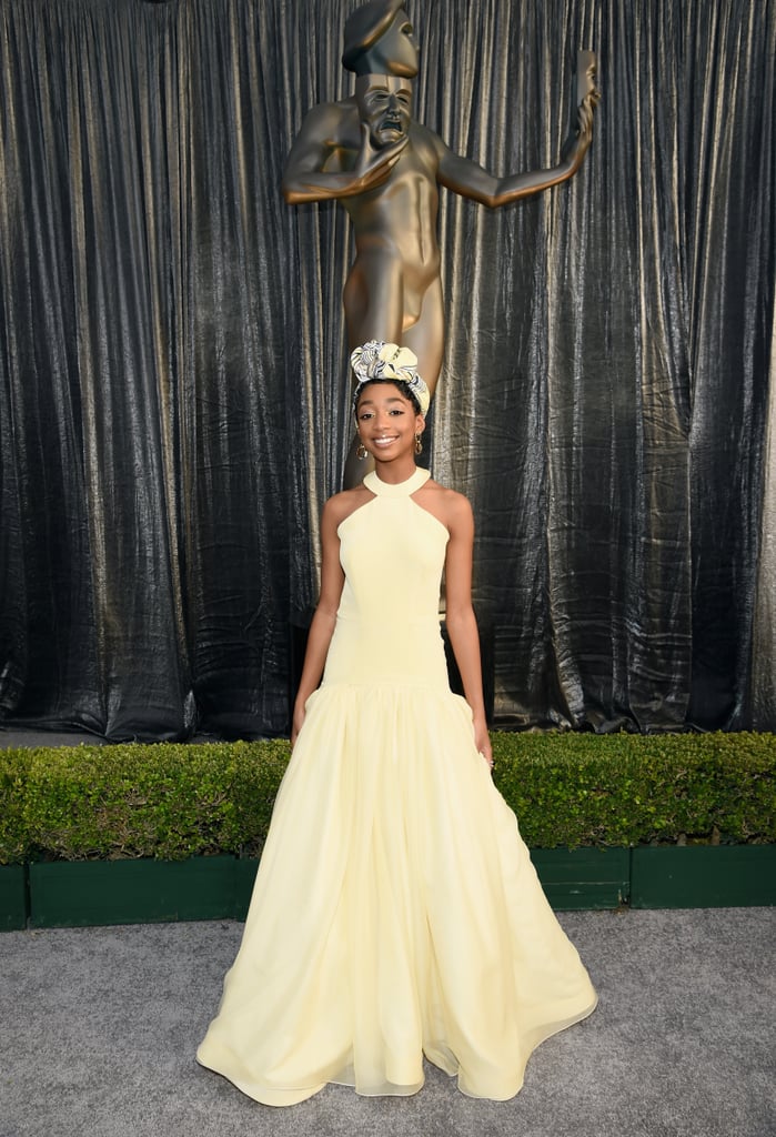
<path fill-rule="evenodd" d="M 689 845 L 631 853 L 631 907 L 776 904 L 776 845 Z"/>

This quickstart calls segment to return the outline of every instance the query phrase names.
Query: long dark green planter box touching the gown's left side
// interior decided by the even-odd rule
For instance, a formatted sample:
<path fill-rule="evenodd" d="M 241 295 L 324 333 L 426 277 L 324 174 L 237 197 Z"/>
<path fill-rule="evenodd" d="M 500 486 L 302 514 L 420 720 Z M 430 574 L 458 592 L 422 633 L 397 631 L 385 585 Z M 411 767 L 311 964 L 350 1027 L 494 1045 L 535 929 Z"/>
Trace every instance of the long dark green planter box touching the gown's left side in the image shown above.
<path fill-rule="evenodd" d="M 250 897 L 256 862 L 58 861 L 30 865 L 32 928 L 235 919 Z"/>

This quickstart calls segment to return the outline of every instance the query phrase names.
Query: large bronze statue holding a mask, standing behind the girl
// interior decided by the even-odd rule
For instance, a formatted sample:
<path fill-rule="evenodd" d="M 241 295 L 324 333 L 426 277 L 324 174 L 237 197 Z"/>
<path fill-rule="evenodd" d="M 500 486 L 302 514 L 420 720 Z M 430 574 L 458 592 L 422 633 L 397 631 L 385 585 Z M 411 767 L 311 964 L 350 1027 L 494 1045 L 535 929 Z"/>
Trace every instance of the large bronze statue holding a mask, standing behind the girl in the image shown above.
<path fill-rule="evenodd" d="M 453 153 L 412 118 L 418 44 L 403 0 L 370 0 L 350 15 L 342 63 L 356 73 L 356 91 L 308 113 L 289 155 L 283 193 L 290 205 L 342 202 L 356 243 L 343 294 L 349 347 L 367 340 L 406 345 L 433 393 L 444 348 L 437 186 L 494 208 L 571 177 L 592 140 L 600 98 L 595 56 L 578 53 L 576 130 L 560 163 L 506 177 Z M 345 485 L 364 473 L 351 449 Z"/>

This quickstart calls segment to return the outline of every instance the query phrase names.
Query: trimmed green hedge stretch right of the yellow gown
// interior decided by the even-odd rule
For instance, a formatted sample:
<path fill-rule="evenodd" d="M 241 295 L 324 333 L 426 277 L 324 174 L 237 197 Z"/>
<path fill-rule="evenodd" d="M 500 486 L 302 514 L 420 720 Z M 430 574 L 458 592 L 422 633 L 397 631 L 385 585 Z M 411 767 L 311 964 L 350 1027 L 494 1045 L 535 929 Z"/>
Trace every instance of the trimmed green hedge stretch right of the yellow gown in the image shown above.
<path fill-rule="evenodd" d="M 776 736 L 493 735 L 532 848 L 776 841 Z"/>

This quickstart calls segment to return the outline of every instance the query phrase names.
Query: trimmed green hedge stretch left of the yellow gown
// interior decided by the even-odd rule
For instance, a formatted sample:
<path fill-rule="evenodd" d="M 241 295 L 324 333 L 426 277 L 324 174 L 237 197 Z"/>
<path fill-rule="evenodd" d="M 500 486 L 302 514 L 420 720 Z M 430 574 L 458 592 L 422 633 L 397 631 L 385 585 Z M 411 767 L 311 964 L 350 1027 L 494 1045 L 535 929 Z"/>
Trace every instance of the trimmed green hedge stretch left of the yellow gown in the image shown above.
<path fill-rule="evenodd" d="M 0 752 L 0 864 L 256 856 L 289 742 Z"/>

